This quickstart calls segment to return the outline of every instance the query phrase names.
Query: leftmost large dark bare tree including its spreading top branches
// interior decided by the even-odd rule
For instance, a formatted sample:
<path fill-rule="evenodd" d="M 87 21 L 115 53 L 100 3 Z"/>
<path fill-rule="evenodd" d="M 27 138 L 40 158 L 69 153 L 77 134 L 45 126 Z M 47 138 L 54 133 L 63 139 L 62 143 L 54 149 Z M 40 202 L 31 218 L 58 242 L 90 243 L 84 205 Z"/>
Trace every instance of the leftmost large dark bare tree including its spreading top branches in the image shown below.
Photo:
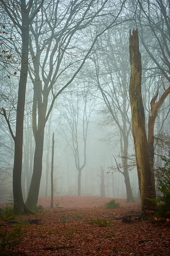
<path fill-rule="evenodd" d="M 37 11 L 40 9 L 42 4 L 43 0 L 38 4 L 37 8 L 34 8 L 32 1 L 26 3 L 26 0 L 21 0 L 17 5 L 14 5 L 13 1 L 11 0 L 8 2 L 3 0 L 0 1 L 1 8 L 4 10 L 4 12 L 6 12 L 10 20 L 16 25 L 22 41 L 15 136 L 9 125 L 9 129 L 15 143 L 13 169 L 13 197 L 15 212 L 28 212 L 28 209 L 23 201 L 21 172 L 23 159 L 23 120 L 26 98 L 26 83 L 28 76 L 29 29 L 31 22 L 34 20 L 34 17 L 37 15 Z M 3 110 L 3 114 L 4 116 L 6 115 L 5 110 Z"/>

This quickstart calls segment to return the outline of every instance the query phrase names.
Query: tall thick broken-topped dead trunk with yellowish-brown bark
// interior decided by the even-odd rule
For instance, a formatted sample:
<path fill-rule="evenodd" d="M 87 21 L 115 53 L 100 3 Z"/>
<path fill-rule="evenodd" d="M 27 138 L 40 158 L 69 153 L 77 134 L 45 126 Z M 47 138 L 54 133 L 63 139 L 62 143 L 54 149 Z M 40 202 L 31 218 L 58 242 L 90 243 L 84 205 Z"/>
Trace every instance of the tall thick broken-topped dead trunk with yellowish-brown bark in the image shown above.
<path fill-rule="evenodd" d="M 150 168 L 149 150 L 147 145 L 144 108 L 142 103 L 142 64 L 139 52 L 138 31 L 133 30 L 129 38 L 130 50 L 130 87 L 129 97 L 132 113 L 133 139 L 136 152 L 136 165 L 141 194 L 142 215 L 155 209 L 155 203 L 148 198 L 156 198 L 154 176 Z"/>

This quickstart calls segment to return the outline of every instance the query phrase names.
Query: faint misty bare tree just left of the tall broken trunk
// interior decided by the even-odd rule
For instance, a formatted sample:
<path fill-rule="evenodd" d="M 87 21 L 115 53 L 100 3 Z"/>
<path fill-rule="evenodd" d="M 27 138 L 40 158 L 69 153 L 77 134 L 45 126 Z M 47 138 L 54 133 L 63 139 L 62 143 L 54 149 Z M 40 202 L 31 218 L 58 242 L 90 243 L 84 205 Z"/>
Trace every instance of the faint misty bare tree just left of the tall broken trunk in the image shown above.
<path fill-rule="evenodd" d="M 105 37 L 100 38 L 100 48 L 91 57 L 94 71 L 91 77 L 93 86 L 99 88 L 111 122 L 115 123 L 120 134 L 120 152 L 122 157 L 127 201 L 134 201 L 127 164 L 129 135 L 131 132 L 131 116 L 129 111 L 128 82 L 129 69 L 127 62 L 127 45 L 123 42 L 125 34 L 121 31 L 108 30 Z M 121 46 L 121 51 L 120 51 Z M 95 74 L 95 76 L 94 76 Z M 106 114 L 106 113 L 104 113 Z M 117 169 L 120 171 L 120 169 Z"/>

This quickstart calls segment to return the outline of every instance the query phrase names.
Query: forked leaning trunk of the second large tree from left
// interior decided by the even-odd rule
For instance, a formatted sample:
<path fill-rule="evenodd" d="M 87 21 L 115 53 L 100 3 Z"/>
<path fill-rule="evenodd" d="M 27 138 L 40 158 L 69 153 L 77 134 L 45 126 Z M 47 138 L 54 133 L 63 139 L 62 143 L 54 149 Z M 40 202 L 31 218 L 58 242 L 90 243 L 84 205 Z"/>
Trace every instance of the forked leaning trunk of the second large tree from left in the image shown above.
<path fill-rule="evenodd" d="M 37 63 L 34 65 L 35 67 L 37 67 Z M 48 90 L 44 90 L 44 96 L 42 101 L 42 82 L 40 80 L 39 73 L 37 73 L 36 79 L 34 81 L 34 99 L 32 106 L 32 127 L 35 139 L 34 164 L 31 184 L 28 192 L 28 197 L 26 200 L 26 205 L 31 209 L 35 209 L 37 207 L 40 189 L 40 181 L 42 175 L 42 154 L 44 145 L 45 115 L 47 111 L 48 94 Z"/>

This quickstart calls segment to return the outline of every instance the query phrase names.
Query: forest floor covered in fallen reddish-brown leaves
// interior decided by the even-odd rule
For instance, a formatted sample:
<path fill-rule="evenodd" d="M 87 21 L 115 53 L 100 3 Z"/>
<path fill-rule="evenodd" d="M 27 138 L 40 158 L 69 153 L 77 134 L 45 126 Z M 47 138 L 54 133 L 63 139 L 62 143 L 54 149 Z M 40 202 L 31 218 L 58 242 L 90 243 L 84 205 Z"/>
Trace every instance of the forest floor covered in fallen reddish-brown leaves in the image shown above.
<path fill-rule="evenodd" d="M 50 209 L 50 198 L 40 198 L 38 204 L 43 207 L 40 212 L 17 217 L 38 219 L 38 223 L 8 224 L 8 250 L 3 247 L 0 255 L 170 256 L 170 226 L 138 218 L 132 218 L 130 223 L 113 220 L 141 209 L 139 202 L 126 203 L 124 199 L 118 200 L 119 208 L 105 208 L 111 199 L 55 197 L 54 209 Z M 0 220 L 0 224 L 4 221 Z M 5 229 L 0 226 L 1 232 Z"/>

